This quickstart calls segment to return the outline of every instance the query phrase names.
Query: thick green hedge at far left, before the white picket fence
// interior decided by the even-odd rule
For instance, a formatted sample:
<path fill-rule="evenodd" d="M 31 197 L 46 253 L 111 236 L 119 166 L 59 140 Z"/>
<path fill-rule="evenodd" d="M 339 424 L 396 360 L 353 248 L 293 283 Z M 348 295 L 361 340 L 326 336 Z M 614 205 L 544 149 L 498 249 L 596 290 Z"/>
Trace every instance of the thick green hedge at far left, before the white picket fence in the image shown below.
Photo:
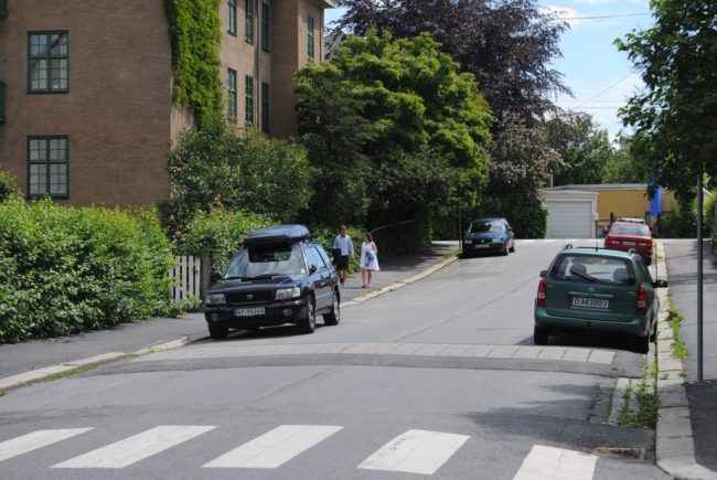
<path fill-rule="evenodd" d="M 0 204 L 0 342 L 163 316 L 172 248 L 154 211 Z"/>

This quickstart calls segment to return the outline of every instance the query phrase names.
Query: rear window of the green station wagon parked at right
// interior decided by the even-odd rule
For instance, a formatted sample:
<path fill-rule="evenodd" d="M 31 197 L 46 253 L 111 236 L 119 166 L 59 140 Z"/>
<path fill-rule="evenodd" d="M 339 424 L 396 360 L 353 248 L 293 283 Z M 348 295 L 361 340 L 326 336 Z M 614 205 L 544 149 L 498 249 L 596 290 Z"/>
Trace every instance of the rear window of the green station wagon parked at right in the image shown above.
<path fill-rule="evenodd" d="M 550 276 L 556 280 L 602 285 L 628 285 L 635 278 L 627 259 L 577 254 L 561 255 Z"/>

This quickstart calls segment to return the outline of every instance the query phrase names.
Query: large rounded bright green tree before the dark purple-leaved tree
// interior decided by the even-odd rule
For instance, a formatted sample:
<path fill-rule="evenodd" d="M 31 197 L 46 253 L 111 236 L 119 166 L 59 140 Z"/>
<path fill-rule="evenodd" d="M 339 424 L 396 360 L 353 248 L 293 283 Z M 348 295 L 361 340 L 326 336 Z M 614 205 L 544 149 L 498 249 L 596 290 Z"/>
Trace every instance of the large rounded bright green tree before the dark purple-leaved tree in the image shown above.
<path fill-rule="evenodd" d="M 378 225 L 475 200 L 492 116 L 473 76 L 438 46 L 428 34 L 394 41 L 368 30 L 297 73 L 321 192 L 310 211 L 321 221 Z"/>

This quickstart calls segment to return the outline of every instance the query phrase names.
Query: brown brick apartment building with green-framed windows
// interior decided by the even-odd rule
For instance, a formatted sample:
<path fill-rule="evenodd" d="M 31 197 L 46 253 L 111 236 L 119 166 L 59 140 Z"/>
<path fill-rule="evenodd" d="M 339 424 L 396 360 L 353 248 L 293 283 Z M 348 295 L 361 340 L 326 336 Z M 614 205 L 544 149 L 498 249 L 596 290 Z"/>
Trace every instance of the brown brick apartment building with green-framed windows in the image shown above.
<path fill-rule="evenodd" d="M 323 58 L 332 0 L 223 0 L 226 115 L 297 134 L 293 73 Z M 0 170 L 28 198 L 146 205 L 169 191 L 169 142 L 192 125 L 172 102 L 162 0 L 0 0 Z"/>

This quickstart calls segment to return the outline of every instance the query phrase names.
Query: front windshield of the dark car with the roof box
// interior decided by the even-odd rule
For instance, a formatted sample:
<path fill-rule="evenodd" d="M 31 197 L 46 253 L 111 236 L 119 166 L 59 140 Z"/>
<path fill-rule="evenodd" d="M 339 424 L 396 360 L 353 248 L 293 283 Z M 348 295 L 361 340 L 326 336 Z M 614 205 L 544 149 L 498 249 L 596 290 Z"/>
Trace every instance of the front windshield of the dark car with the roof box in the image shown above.
<path fill-rule="evenodd" d="M 253 278 L 275 275 L 304 275 L 306 263 L 298 246 L 256 246 L 239 252 L 224 278 Z"/>

